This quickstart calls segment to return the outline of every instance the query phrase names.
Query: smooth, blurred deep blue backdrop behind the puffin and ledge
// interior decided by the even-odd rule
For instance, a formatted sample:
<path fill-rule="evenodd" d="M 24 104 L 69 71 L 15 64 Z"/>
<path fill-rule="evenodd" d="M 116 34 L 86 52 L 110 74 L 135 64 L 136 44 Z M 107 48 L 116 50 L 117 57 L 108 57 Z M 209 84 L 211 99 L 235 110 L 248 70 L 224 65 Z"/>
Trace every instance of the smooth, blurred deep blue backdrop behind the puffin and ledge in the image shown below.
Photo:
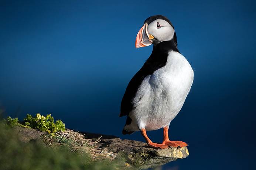
<path fill-rule="evenodd" d="M 194 69 L 170 126 L 190 156 L 163 169 L 252 169 L 256 123 L 253 1 L 1 1 L 0 105 L 6 115 L 52 113 L 66 127 L 122 135 L 120 102 L 153 46 L 135 49 L 144 20 L 167 16 Z M 162 130 L 150 131 L 161 142 Z"/>

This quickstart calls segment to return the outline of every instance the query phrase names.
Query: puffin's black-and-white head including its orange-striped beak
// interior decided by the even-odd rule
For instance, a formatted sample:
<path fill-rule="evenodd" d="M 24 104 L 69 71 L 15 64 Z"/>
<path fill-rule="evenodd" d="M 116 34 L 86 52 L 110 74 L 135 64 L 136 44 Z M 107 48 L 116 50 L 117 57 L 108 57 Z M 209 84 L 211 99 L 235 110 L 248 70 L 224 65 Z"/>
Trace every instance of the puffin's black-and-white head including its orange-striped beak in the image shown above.
<path fill-rule="evenodd" d="M 177 39 L 173 24 L 163 15 L 154 15 L 145 20 L 144 25 L 137 34 L 136 48 L 149 46 L 152 43 L 157 45 L 163 41 L 174 39 L 177 46 Z"/>

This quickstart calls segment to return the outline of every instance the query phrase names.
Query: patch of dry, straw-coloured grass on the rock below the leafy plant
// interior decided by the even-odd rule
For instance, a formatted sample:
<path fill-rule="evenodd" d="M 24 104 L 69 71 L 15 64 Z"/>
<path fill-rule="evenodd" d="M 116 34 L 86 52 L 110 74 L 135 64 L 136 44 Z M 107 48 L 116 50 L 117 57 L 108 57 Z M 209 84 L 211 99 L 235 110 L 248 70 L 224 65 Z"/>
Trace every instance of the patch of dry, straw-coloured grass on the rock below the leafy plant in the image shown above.
<path fill-rule="evenodd" d="M 57 132 L 54 136 L 42 135 L 42 141 L 50 148 L 57 148 L 61 145 L 67 146 L 71 152 L 78 153 L 79 155 L 89 154 L 92 161 L 111 159 L 111 153 L 104 153 L 104 150 L 98 148 L 96 144 L 100 141 L 92 141 L 86 139 L 85 135 L 74 132 L 72 130 Z"/>

